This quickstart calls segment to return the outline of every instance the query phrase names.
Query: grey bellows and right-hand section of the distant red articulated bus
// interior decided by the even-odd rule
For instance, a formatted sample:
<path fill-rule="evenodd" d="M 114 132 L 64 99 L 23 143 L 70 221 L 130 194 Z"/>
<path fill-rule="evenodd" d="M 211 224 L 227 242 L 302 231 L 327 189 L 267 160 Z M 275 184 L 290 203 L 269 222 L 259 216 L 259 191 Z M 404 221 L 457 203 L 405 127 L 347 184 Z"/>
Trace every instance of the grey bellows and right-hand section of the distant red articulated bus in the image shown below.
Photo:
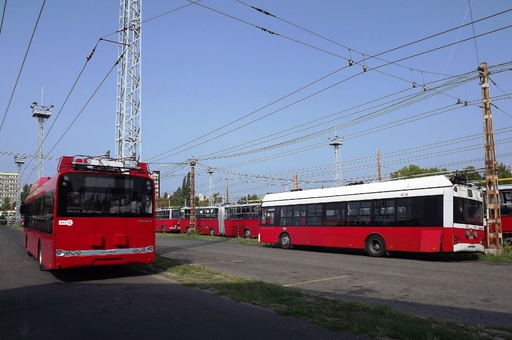
<path fill-rule="evenodd" d="M 260 206 L 255 203 L 220 207 L 220 235 L 256 237 L 260 229 Z"/>

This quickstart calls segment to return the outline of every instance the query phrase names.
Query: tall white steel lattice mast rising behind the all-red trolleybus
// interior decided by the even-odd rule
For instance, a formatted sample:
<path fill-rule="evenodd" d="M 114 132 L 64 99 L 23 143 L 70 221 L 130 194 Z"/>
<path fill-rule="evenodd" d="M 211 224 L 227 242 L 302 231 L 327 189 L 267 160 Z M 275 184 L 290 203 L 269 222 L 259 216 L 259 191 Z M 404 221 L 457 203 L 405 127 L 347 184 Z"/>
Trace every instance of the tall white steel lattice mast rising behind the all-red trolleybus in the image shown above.
<path fill-rule="evenodd" d="M 116 157 L 134 166 L 141 157 L 141 0 L 121 0 L 117 68 Z"/>

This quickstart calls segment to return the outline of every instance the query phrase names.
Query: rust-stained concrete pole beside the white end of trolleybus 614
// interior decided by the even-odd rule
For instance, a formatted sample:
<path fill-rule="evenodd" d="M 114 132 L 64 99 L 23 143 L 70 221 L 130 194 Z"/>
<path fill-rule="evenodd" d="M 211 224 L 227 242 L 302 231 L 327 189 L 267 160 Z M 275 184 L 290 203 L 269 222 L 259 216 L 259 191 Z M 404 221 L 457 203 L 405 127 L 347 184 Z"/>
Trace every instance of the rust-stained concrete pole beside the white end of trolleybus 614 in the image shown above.
<path fill-rule="evenodd" d="M 487 245 L 485 253 L 500 255 L 503 251 L 501 214 L 498 191 L 498 169 L 494 147 L 493 115 L 490 111 L 489 72 L 487 63 L 478 67 L 482 87 L 483 134 L 485 150 L 485 201 L 487 208 Z"/>

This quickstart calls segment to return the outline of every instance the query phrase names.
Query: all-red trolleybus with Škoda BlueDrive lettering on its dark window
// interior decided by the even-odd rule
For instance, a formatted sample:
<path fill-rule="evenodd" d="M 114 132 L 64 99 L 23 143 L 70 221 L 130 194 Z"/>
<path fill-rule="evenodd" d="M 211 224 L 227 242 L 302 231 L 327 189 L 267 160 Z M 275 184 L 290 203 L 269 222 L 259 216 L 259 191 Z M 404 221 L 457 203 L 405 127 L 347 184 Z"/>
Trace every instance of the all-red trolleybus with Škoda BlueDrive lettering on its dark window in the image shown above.
<path fill-rule="evenodd" d="M 23 205 L 24 242 L 39 268 L 155 262 L 155 190 L 147 164 L 63 156 Z"/>

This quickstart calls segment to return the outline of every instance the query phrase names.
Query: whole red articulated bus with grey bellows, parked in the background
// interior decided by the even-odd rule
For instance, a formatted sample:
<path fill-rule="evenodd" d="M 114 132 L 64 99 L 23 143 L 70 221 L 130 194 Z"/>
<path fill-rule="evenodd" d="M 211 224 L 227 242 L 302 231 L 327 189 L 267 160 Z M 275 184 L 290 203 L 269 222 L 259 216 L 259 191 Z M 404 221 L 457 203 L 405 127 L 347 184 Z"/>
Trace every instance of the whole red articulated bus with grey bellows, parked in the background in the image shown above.
<path fill-rule="evenodd" d="M 259 211 L 259 203 L 197 207 L 196 230 L 211 236 L 255 237 L 260 224 Z M 189 232 L 190 208 L 181 208 L 180 227 L 182 233 Z"/>

